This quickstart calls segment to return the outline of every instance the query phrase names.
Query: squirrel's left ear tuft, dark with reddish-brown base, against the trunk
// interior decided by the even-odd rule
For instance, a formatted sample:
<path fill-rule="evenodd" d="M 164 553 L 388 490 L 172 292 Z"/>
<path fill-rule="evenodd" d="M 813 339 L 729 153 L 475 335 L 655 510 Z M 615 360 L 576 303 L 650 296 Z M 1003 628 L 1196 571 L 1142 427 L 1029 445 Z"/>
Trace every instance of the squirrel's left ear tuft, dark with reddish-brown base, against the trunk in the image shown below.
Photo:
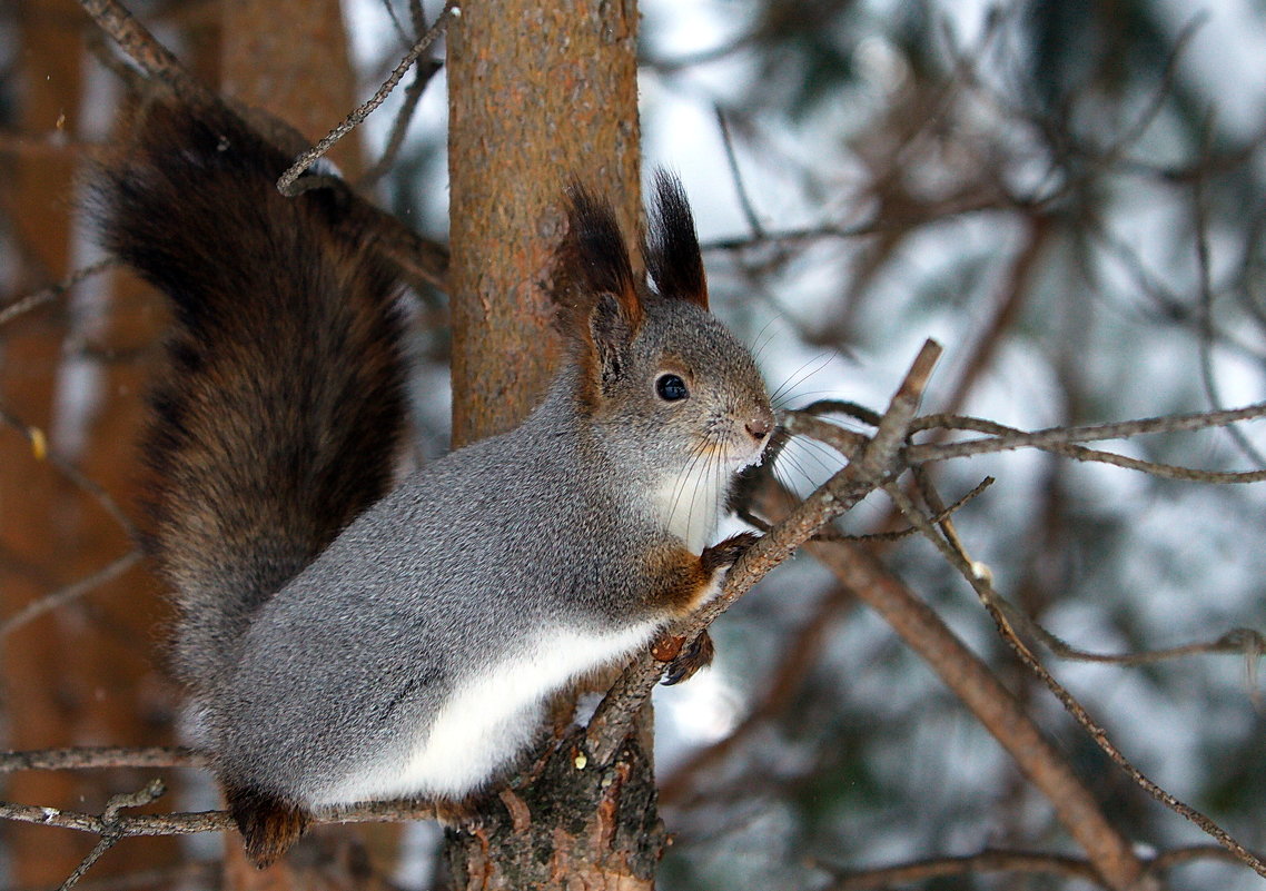
<path fill-rule="evenodd" d="M 615 211 L 579 182 L 567 189 L 567 235 L 558 247 L 558 266 L 572 292 L 572 311 L 587 315 L 604 295 L 611 295 L 636 330 L 642 321 L 633 265 Z"/>

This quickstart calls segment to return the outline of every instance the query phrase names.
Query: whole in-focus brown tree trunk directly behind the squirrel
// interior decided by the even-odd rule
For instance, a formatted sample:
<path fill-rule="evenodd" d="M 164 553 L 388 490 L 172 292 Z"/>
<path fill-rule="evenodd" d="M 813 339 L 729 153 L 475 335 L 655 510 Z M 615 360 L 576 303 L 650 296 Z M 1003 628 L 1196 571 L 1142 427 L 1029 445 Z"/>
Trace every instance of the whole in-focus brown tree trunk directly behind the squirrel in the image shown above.
<path fill-rule="evenodd" d="M 563 186 L 579 177 L 605 192 L 633 230 L 636 39 L 633 0 L 463 4 L 449 29 L 454 446 L 519 423 L 555 370 L 549 268 Z M 449 833 L 453 885 L 652 887 L 665 835 L 648 734 L 638 737 L 605 770 L 563 745 L 477 832 Z"/>

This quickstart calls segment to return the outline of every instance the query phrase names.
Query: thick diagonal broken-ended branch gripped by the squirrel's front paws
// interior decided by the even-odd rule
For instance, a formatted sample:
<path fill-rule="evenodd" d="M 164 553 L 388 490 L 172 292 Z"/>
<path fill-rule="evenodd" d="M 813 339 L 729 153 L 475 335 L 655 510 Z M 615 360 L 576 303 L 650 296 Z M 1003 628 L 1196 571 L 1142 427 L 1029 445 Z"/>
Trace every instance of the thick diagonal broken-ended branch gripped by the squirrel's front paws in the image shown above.
<path fill-rule="evenodd" d="M 856 461 L 814 491 L 790 515 L 744 553 L 725 576 L 720 594 L 706 606 L 667 630 L 671 637 L 694 639 L 748 589 L 775 566 L 790 557 L 813 534 L 881 486 L 898 467 L 901 444 L 919 408 L 919 400 L 941 347 L 923 344 L 901 386 L 880 419 L 875 437 Z M 641 656 L 608 691 L 599 704 L 585 738 L 589 756 L 599 764 L 610 762 L 632 726 L 633 718 L 649 697 L 663 664 L 649 654 Z"/>

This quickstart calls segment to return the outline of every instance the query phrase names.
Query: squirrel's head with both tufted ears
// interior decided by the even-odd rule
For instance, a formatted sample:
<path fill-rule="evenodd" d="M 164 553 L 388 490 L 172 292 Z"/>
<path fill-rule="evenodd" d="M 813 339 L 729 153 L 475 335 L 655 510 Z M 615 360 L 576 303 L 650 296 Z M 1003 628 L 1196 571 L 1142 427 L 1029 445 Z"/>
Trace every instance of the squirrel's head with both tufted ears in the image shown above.
<path fill-rule="evenodd" d="M 670 473 L 729 476 L 760 461 L 774 429 L 770 397 L 752 354 L 708 311 L 681 184 L 656 172 L 642 242 L 649 284 L 633 272 L 611 206 L 581 186 L 568 199 L 560 318 L 582 410 L 608 439 L 643 449 L 649 466 Z"/>

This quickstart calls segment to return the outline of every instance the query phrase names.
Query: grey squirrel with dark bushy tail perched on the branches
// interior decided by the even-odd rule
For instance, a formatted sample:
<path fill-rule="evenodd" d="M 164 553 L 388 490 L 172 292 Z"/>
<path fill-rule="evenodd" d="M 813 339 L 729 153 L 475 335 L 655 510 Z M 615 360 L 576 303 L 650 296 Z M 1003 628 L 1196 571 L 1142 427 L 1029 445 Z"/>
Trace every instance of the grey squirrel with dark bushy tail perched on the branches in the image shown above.
<path fill-rule="evenodd" d="M 404 423 L 396 282 L 341 187 L 223 109 L 158 103 L 96 178 L 103 242 L 175 306 L 152 397 L 149 545 L 175 666 L 251 859 L 313 809 L 458 801 L 514 766 L 546 697 L 713 596 L 708 547 L 774 415 L 706 310 L 680 184 L 658 175 L 634 275 L 608 204 L 570 190 L 568 361 L 513 432 L 389 491 Z"/>

